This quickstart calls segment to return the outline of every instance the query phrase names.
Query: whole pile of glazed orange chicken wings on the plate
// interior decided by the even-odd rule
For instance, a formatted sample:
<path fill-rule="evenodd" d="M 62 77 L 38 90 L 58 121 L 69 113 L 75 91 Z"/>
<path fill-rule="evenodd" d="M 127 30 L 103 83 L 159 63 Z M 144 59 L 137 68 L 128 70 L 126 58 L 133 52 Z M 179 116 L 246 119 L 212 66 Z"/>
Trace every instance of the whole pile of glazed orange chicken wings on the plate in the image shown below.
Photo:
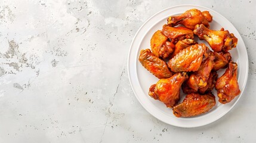
<path fill-rule="evenodd" d="M 171 16 L 162 30 L 153 34 L 151 50 L 140 51 L 138 60 L 142 66 L 159 78 L 150 86 L 149 96 L 172 108 L 176 117 L 192 117 L 211 110 L 216 104 L 214 88 L 222 104 L 240 94 L 238 64 L 229 53 L 238 39 L 223 28 L 209 29 L 211 21 L 208 11 L 197 9 Z M 195 35 L 211 48 L 194 41 Z M 220 69 L 226 71 L 218 77 Z M 187 94 L 182 102 L 180 89 Z"/>

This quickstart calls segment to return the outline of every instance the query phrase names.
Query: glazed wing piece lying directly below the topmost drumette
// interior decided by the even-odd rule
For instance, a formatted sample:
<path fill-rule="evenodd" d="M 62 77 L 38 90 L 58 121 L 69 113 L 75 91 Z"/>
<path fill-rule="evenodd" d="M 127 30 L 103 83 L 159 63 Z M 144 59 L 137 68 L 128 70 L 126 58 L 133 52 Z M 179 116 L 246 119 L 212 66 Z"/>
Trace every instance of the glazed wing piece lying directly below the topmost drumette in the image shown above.
<path fill-rule="evenodd" d="M 171 27 L 168 25 L 164 25 L 162 29 L 162 33 L 169 39 L 171 39 L 172 43 L 177 43 L 183 39 L 193 39 L 194 33 L 192 30 L 187 29 L 186 27 Z"/>

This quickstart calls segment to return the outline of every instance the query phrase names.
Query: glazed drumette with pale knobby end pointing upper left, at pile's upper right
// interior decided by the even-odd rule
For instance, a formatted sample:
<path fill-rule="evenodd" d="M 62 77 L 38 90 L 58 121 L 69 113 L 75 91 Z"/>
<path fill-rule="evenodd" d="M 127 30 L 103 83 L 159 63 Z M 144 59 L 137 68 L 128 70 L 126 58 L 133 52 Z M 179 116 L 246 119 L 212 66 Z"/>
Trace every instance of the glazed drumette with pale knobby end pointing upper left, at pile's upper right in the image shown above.
<path fill-rule="evenodd" d="M 233 33 L 229 33 L 228 30 L 224 30 L 223 28 L 220 31 L 210 30 L 203 24 L 198 24 L 195 26 L 193 32 L 195 35 L 198 35 L 199 39 L 208 42 L 215 52 L 227 52 L 230 49 L 235 48 L 238 43 L 238 38 L 236 38 Z"/>

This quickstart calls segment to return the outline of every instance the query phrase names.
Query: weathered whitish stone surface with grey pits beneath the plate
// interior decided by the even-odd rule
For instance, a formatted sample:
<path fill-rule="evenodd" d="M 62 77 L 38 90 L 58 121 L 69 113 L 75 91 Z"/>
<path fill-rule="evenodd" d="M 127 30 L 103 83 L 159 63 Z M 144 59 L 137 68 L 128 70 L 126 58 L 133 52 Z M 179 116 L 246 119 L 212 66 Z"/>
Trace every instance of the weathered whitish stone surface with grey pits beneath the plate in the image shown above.
<path fill-rule="evenodd" d="M 166 125 L 129 85 L 127 57 L 150 16 L 202 5 L 238 29 L 249 55 L 238 104 L 200 128 Z M 0 142 L 256 142 L 255 1 L 0 1 Z"/>

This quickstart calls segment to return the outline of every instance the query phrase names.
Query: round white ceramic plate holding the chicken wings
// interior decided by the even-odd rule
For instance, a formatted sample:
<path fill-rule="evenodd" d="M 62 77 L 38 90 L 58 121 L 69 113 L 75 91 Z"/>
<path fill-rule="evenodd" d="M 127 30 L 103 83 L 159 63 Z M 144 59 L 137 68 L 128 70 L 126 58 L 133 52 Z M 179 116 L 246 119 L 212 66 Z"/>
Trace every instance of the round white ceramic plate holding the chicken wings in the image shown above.
<path fill-rule="evenodd" d="M 210 29 L 220 30 L 221 27 L 224 27 L 225 30 L 229 30 L 230 33 L 234 33 L 236 38 L 238 38 L 238 45 L 229 52 L 232 54 L 232 60 L 238 63 L 238 82 L 241 93 L 232 102 L 223 105 L 218 102 L 217 93 L 214 89 L 213 94 L 216 97 L 217 104 L 208 113 L 190 118 L 178 118 L 172 114 L 171 108 L 166 108 L 165 104 L 162 102 L 153 100 L 153 98 L 149 97 L 148 92 L 150 85 L 155 84 L 159 79 L 141 66 L 138 61 L 138 56 L 141 49 L 150 48 L 150 39 L 153 33 L 155 33 L 156 30 L 162 29 L 162 26 L 166 24 L 166 19 L 170 15 L 181 14 L 192 8 L 197 8 L 201 11 L 209 11 L 213 16 L 212 23 L 210 23 Z M 203 41 L 198 42 L 201 43 Z M 206 45 L 208 44 L 206 43 Z M 218 76 L 220 77 L 223 73 L 224 70 L 219 71 Z M 128 56 L 128 74 L 135 96 L 150 114 L 169 125 L 192 128 L 207 125 L 220 119 L 220 117 L 224 116 L 224 114 L 230 111 L 236 102 L 238 102 L 239 98 L 242 96 L 243 90 L 245 89 L 248 77 L 248 55 L 245 43 L 243 43 L 243 39 L 241 38 L 238 30 L 236 30 L 233 24 L 223 17 L 223 15 L 206 7 L 197 5 L 178 5 L 176 7 L 167 8 L 166 10 L 153 15 L 140 27 L 131 43 Z M 181 94 L 180 101 L 183 101 L 184 96 L 184 94 Z"/>

